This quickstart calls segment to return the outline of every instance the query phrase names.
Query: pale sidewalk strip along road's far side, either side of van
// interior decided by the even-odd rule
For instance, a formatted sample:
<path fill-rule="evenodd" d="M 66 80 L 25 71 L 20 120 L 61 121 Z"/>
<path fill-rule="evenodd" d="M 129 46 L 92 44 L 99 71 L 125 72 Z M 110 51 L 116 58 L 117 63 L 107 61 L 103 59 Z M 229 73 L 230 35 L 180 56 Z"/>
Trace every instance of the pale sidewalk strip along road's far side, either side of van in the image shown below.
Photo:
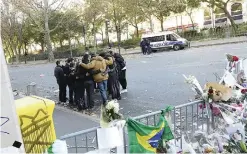
<path fill-rule="evenodd" d="M 191 48 L 199 48 L 199 47 L 205 47 L 205 46 L 223 45 L 223 44 L 232 44 L 232 43 L 244 43 L 244 42 L 247 42 L 246 36 L 231 37 L 231 38 L 218 39 L 218 40 L 191 41 L 190 47 Z M 128 49 L 128 50 L 122 49 L 121 53 L 123 55 L 139 54 L 139 53 L 141 53 L 141 48 L 137 47 L 137 48 Z"/>

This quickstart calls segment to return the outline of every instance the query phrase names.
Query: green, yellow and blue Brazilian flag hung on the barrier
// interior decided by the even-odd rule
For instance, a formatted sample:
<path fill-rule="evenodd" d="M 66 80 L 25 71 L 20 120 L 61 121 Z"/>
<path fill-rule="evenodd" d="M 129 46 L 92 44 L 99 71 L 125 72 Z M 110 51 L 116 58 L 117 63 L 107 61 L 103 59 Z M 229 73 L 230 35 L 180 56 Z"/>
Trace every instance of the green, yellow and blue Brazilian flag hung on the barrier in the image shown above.
<path fill-rule="evenodd" d="M 167 121 L 161 115 L 156 126 L 144 125 L 133 119 L 127 120 L 129 153 L 156 153 L 161 140 L 174 138 Z"/>

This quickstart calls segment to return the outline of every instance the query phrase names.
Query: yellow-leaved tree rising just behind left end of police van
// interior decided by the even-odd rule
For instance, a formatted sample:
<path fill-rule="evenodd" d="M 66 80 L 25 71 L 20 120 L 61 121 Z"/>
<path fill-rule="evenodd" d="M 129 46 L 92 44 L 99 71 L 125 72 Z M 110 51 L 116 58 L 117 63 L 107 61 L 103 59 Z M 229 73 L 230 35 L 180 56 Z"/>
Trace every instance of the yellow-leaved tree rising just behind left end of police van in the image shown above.
<path fill-rule="evenodd" d="M 141 0 L 126 0 L 125 14 L 128 23 L 136 29 L 136 37 L 139 37 L 138 24 L 145 21 L 145 15 L 142 12 Z"/>

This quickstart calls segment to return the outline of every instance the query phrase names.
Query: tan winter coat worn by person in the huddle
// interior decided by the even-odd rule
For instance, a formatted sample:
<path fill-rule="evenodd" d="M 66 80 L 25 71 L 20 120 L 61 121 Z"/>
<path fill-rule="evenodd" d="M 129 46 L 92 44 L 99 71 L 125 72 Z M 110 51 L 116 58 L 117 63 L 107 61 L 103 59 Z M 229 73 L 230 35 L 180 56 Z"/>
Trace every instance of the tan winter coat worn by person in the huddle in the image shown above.
<path fill-rule="evenodd" d="M 90 63 L 82 63 L 81 66 L 86 69 L 92 69 L 93 71 L 100 70 L 100 73 L 93 75 L 94 81 L 98 83 L 108 79 L 107 66 L 112 64 L 112 58 L 110 58 L 110 60 L 106 60 L 100 56 L 96 56 L 92 58 L 92 61 Z"/>

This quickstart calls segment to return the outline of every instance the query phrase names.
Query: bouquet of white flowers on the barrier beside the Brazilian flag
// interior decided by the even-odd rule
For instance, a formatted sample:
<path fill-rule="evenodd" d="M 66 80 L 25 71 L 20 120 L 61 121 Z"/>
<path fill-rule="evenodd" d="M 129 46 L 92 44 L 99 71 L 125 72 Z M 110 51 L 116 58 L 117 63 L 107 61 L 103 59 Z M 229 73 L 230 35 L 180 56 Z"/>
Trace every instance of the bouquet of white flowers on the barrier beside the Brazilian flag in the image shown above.
<path fill-rule="evenodd" d="M 119 104 L 117 100 L 112 100 L 101 108 L 101 126 L 108 125 L 110 122 L 122 119 L 122 114 L 119 113 Z"/>

